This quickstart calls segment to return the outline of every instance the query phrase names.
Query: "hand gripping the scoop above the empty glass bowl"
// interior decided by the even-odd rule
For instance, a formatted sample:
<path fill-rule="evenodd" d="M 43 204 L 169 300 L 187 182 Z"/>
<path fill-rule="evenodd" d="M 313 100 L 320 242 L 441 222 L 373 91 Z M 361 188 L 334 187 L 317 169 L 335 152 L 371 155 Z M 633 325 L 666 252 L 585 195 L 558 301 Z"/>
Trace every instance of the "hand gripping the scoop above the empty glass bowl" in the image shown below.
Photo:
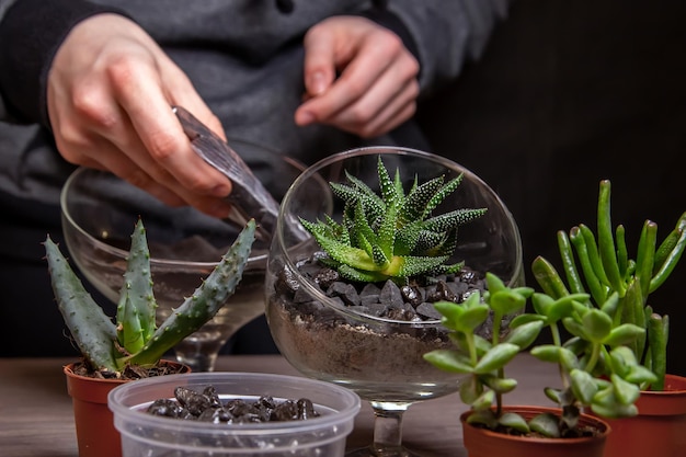
<path fill-rule="evenodd" d="M 221 197 L 231 183 L 192 150 L 171 105 L 224 136 L 183 71 L 124 16 L 79 23 L 53 60 L 47 107 L 67 161 L 110 170 L 169 205 L 226 217 Z"/>

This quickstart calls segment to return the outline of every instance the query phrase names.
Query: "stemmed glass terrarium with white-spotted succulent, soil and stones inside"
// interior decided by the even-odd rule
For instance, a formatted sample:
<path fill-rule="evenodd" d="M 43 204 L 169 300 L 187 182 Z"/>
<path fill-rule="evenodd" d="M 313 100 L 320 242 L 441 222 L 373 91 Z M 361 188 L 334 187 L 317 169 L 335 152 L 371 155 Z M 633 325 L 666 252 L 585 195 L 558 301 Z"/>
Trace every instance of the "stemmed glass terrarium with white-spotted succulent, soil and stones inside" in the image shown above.
<path fill-rule="evenodd" d="M 331 198 L 312 191 L 322 182 Z M 293 218 L 311 237 L 290 233 Z M 401 453 L 403 411 L 454 392 L 460 377 L 423 359 L 450 345 L 432 304 L 482 289 L 485 271 L 519 284 L 521 254 L 510 212 L 469 170 L 407 148 L 344 151 L 308 168 L 282 201 L 267 322 L 298 370 L 371 403 L 374 444 L 354 455 Z"/>

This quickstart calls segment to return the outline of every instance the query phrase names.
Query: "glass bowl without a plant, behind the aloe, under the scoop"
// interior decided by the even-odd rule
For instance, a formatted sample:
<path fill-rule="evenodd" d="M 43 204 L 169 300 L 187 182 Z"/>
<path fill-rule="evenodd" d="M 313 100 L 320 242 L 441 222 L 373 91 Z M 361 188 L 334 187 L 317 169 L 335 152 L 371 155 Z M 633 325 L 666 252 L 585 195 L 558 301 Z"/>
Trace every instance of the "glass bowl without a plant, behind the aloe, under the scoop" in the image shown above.
<path fill-rule="evenodd" d="M 253 173 L 279 201 L 304 167 L 268 149 L 232 139 Z M 70 256 L 85 278 L 118 301 L 134 225 L 141 217 L 150 249 L 158 324 L 178 308 L 219 262 L 243 228 L 192 207 L 173 208 L 112 173 L 79 168 L 61 196 L 62 229 Z M 221 346 L 264 312 L 268 241 L 258 237 L 236 293 L 203 328 L 174 347 L 194 372 L 214 369 Z"/>

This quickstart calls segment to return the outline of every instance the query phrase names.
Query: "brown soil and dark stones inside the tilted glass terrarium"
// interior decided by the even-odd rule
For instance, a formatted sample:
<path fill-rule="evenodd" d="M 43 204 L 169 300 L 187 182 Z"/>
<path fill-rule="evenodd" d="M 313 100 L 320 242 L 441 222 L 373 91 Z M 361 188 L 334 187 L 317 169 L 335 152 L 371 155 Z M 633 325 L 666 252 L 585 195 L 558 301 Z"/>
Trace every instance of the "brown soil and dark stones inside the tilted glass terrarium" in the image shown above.
<path fill-rule="evenodd" d="M 441 315 L 433 304 L 462 302 L 476 290 L 483 292 L 483 275 L 464 267 L 458 274 L 415 278 L 405 286 L 392 281 L 352 283 L 318 262 L 320 255 L 298 262 L 297 267 L 338 305 L 322 304 L 288 270 L 281 272 L 267 292 L 267 320 L 282 353 L 313 375 L 387 384 L 389 397 L 395 395 L 390 384 L 396 391 L 420 391 L 426 379 L 441 385 L 436 392 L 454 389 L 455 374 L 442 372 L 423 358 L 430 351 L 453 347 L 449 331 L 439 324 Z M 491 328 L 487 322 L 478 334 L 490 339 Z M 404 387 L 413 382 L 414 387 Z"/>

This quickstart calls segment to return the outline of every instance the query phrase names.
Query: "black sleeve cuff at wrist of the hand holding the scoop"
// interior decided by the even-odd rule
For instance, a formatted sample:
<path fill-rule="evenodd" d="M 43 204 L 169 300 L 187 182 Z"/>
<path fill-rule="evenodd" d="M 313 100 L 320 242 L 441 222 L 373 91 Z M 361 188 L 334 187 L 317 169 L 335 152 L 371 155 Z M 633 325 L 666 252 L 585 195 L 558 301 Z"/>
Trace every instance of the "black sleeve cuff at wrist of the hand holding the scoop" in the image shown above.
<path fill-rule="evenodd" d="M 0 0 L 0 119 L 49 125 L 47 73 L 71 28 L 122 11 L 83 0 Z"/>

